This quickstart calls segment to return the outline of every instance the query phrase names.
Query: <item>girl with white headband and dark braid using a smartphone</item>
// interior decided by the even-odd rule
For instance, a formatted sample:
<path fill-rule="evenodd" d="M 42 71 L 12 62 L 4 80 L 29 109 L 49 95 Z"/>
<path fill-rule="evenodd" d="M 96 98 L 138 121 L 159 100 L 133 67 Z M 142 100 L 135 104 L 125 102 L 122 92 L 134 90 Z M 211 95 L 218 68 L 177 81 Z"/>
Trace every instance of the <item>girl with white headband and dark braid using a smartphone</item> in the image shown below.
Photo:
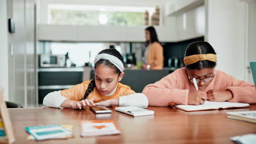
<path fill-rule="evenodd" d="M 119 81 L 124 76 L 123 56 L 115 49 L 102 50 L 95 57 L 95 78 L 63 91 L 51 92 L 43 104 L 49 107 L 82 109 L 90 105 L 138 106 L 147 108 L 148 99 Z"/>

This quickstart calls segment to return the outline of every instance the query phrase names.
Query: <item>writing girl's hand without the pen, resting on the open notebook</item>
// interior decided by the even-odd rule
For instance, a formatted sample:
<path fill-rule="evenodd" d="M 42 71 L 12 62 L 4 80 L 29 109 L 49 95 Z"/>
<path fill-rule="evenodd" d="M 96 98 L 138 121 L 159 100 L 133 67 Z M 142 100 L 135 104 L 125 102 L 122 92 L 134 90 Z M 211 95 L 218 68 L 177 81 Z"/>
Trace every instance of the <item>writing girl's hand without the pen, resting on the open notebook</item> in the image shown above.
<path fill-rule="evenodd" d="M 207 92 L 207 99 L 209 101 L 228 101 L 233 98 L 233 94 L 230 91 L 219 91 L 212 89 Z"/>

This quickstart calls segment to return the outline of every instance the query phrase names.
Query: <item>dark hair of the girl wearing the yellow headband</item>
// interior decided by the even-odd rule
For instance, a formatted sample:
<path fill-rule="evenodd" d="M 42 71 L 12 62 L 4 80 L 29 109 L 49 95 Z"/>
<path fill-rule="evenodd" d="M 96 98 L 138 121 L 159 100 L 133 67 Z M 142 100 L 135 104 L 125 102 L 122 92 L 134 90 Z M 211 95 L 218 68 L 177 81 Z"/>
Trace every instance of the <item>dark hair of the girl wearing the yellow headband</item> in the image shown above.
<path fill-rule="evenodd" d="M 213 47 L 207 43 L 206 41 L 195 41 L 188 45 L 185 51 L 185 57 L 191 55 L 200 55 L 200 54 L 208 54 L 212 53 L 216 55 Z M 193 64 L 186 65 L 187 69 L 202 69 L 202 68 L 214 68 L 216 66 L 216 62 L 212 61 L 198 61 Z"/>

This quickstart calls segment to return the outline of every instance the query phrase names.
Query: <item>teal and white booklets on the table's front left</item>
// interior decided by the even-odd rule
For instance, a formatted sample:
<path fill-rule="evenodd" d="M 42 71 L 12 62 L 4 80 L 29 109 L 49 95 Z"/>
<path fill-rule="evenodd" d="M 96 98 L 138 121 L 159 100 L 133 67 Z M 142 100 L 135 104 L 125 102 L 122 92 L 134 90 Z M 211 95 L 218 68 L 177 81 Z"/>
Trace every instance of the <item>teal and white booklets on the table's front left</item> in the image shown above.
<path fill-rule="evenodd" d="M 43 125 L 37 127 L 25 127 L 31 134 L 28 140 L 67 139 L 73 137 L 72 125 Z"/>

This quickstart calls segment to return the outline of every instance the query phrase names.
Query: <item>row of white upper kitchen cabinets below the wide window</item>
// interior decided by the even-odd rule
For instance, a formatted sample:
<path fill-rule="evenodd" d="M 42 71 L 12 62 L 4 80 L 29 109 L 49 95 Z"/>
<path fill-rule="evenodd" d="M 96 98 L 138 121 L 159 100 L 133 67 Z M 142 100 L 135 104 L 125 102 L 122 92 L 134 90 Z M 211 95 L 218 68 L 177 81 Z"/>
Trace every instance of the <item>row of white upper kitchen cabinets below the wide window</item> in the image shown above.
<path fill-rule="evenodd" d="M 76 42 L 144 42 L 147 26 L 75 26 L 39 24 L 38 39 L 42 41 Z M 175 28 L 155 26 L 161 42 L 176 41 Z"/>

